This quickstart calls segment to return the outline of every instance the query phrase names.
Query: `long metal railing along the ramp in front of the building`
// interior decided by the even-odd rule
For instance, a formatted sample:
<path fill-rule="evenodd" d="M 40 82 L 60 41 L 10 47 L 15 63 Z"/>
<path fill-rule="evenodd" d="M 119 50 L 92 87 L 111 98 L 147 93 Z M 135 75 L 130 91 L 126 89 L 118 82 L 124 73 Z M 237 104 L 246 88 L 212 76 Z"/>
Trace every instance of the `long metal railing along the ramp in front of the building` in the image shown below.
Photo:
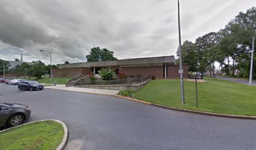
<path fill-rule="evenodd" d="M 136 78 L 136 79 L 116 79 L 116 80 L 100 80 L 100 81 L 80 81 L 75 83 L 75 86 L 89 86 L 89 85 L 141 85 L 147 82 L 150 76 L 146 78 Z"/>

